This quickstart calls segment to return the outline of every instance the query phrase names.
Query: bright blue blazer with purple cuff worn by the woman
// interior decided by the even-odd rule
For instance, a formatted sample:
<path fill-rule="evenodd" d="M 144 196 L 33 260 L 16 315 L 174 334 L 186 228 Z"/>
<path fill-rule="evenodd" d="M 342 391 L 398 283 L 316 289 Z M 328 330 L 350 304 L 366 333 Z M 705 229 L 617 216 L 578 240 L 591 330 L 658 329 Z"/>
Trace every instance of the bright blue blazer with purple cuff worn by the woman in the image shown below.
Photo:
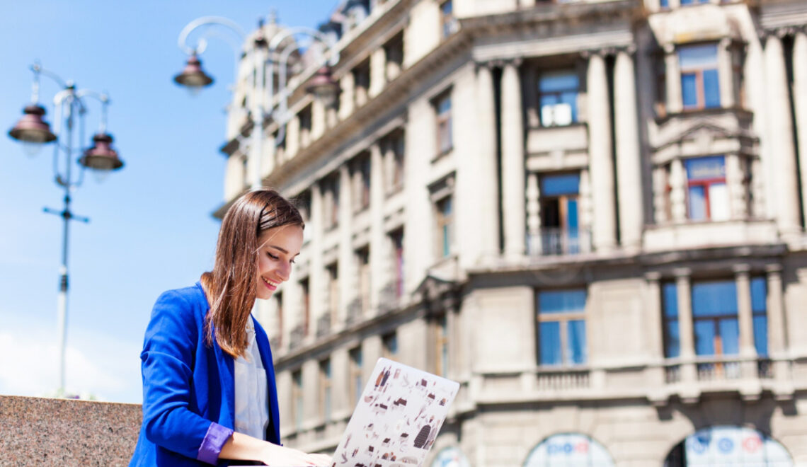
<path fill-rule="evenodd" d="M 233 359 L 215 340 L 205 344 L 208 309 L 199 282 L 165 292 L 154 305 L 140 353 L 143 424 L 130 467 L 229 464 L 219 460 L 219 453 L 234 426 Z M 266 440 L 280 444 L 269 339 L 261 325 L 253 322 L 269 393 Z"/>

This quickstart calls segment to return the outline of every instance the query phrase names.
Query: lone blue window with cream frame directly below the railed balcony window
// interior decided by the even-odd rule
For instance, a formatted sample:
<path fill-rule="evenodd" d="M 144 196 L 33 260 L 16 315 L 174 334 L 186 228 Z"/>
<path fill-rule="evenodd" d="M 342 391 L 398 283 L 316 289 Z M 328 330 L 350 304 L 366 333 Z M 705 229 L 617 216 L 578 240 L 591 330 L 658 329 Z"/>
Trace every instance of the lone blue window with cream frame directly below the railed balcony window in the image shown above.
<path fill-rule="evenodd" d="M 585 290 L 539 292 L 537 321 L 541 365 L 587 362 Z"/>

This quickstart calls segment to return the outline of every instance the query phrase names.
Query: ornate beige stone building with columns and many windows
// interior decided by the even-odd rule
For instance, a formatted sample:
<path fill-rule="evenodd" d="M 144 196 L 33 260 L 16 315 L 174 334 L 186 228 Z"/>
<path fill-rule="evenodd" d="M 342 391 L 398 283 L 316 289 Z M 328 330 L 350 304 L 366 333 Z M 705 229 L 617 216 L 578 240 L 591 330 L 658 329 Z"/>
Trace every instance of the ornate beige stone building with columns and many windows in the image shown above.
<path fill-rule="evenodd" d="M 245 44 L 216 209 L 306 219 L 257 310 L 286 445 L 332 452 L 389 357 L 461 385 L 429 466 L 807 465 L 807 3 L 322 16 Z"/>

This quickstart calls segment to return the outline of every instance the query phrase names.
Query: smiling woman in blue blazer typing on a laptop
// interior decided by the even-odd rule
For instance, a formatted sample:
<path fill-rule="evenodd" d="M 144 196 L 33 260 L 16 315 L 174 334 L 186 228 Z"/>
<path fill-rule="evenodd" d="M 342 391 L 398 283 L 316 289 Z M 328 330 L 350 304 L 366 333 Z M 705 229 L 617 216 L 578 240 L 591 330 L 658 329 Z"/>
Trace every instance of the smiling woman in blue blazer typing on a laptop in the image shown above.
<path fill-rule="evenodd" d="M 266 332 L 250 311 L 288 280 L 303 219 L 274 190 L 233 203 L 212 272 L 157 299 L 143 352 L 143 424 L 132 465 L 328 465 L 280 445 Z"/>

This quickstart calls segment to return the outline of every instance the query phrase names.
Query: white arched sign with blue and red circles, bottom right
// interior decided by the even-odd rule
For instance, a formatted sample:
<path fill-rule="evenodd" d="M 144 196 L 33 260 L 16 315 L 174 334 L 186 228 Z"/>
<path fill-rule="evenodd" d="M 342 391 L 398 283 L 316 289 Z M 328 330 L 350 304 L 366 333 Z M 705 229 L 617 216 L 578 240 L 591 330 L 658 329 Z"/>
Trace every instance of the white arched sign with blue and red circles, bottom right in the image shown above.
<path fill-rule="evenodd" d="M 687 465 L 775 465 L 792 467 L 784 447 L 753 428 L 709 427 L 684 441 Z"/>

